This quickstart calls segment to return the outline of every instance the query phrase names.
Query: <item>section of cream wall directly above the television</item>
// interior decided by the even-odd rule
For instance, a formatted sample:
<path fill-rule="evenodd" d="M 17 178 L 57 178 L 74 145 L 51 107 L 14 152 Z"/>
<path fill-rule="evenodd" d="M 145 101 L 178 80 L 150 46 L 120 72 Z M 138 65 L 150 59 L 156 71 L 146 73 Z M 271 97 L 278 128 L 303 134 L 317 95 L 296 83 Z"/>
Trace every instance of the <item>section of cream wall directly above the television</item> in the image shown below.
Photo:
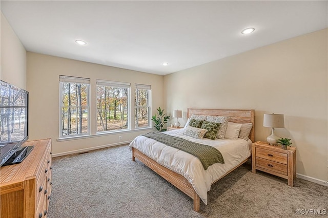
<path fill-rule="evenodd" d="M 0 79 L 26 89 L 26 50 L 1 13 Z"/>

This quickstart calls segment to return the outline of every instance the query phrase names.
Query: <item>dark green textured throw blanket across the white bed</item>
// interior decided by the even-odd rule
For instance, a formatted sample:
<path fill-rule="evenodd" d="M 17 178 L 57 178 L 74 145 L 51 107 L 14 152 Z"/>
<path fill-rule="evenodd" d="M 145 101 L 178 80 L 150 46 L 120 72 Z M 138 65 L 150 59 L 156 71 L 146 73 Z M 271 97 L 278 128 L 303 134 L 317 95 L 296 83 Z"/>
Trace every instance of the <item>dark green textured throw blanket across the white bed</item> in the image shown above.
<path fill-rule="evenodd" d="M 198 158 L 206 170 L 209 166 L 215 163 L 224 163 L 221 152 L 215 147 L 209 145 L 203 145 L 196 142 L 182 139 L 175 136 L 170 136 L 163 133 L 148 133 L 141 136 L 155 139 L 158 142 L 169 145 L 171 147 L 183 150 L 196 158 Z"/>

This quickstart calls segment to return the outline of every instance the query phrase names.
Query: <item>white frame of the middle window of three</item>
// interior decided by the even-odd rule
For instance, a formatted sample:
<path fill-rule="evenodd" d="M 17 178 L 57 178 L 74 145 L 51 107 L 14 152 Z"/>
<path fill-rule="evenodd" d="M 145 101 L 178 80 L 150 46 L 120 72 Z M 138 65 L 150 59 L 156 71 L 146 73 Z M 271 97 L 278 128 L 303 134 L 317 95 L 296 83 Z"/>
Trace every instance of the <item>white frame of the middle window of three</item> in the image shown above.
<path fill-rule="evenodd" d="M 115 130 L 107 130 L 107 131 L 98 132 L 97 131 L 97 114 L 96 114 L 96 116 L 95 116 L 95 118 L 96 118 L 96 134 L 100 135 L 100 134 L 115 133 L 115 132 L 125 132 L 125 131 L 128 131 L 128 130 L 131 130 L 131 122 L 130 122 L 131 121 L 131 83 L 97 79 L 96 85 L 97 86 L 98 85 L 111 86 L 111 87 L 118 87 L 118 88 L 128 88 L 128 99 L 127 99 L 127 102 L 128 102 L 128 108 L 127 108 L 128 126 L 127 126 L 127 128 L 126 129 L 115 129 Z M 95 96 L 96 96 L 96 104 L 97 104 L 97 92 L 96 92 Z M 96 105 L 96 111 L 98 113 L 97 105 Z"/>

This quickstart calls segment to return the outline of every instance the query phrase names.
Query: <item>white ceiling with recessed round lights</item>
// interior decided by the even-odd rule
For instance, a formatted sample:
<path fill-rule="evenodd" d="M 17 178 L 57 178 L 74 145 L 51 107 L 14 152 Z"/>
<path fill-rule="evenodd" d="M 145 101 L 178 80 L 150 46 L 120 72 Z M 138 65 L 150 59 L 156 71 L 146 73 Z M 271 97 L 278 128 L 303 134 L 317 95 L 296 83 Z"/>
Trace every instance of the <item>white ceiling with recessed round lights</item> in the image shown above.
<path fill-rule="evenodd" d="M 27 51 L 159 75 L 328 23 L 327 1 L 1 1 L 1 11 Z"/>

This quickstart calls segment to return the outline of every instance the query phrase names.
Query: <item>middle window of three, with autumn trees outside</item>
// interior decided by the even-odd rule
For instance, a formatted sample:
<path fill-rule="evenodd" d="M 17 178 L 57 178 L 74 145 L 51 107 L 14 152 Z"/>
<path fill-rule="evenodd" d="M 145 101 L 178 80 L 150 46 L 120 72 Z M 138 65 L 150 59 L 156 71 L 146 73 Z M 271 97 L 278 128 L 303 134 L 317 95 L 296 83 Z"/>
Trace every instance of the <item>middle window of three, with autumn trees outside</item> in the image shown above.
<path fill-rule="evenodd" d="M 130 129 L 130 83 L 97 80 L 97 133 Z"/>

